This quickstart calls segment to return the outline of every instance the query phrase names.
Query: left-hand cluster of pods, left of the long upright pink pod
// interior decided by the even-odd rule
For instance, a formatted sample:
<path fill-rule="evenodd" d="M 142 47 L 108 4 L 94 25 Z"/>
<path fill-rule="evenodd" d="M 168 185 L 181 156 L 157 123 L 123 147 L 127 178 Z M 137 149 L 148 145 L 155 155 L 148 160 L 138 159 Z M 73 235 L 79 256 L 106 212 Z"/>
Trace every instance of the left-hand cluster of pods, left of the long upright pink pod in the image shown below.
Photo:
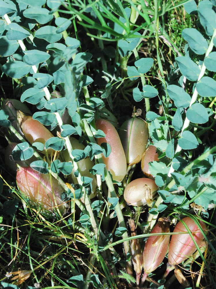
<path fill-rule="evenodd" d="M 33 144 L 34 142 L 45 142 L 54 137 L 54 135 L 39 121 L 32 118 L 31 112 L 26 105 L 20 101 L 7 99 L 3 102 L 3 109 L 9 114 L 9 120 L 12 126 L 26 138 L 26 140 Z M 20 110 L 26 112 L 24 114 Z M 27 115 L 28 114 L 28 115 Z M 85 146 L 75 138 L 71 137 L 71 145 L 73 149 L 84 150 Z M 25 161 L 14 161 L 12 158 L 12 151 L 16 147 L 17 142 L 9 142 L 5 149 L 5 164 L 11 171 L 16 172 L 17 186 L 22 192 L 23 196 L 31 201 L 37 208 L 53 211 L 58 209 L 61 214 L 67 211 L 68 205 L 61 199 L 62 192 L 65 190 L 60 186 L 59 182 L 49 174 L 43 174 L 31 168 L 31 162 L 37 160 L 33 155 Z M 54 155 L 55 151 L 48 149 L 48 155 Z M 41 151 L 42 155 L 46 154 L 46 150 Z M 62 151 L 62 160 L 68 162 L 70 159 L 67 150 Z M 18 166 L 17 166 L 18 165 Z M 94 162 L 90 158 L 79 161 L 79 169 L 83 176 L 92 177 L 92 193 L 90 198 L 96 194 L 96 177 L 91 175 L 89 169 L 94 166 Z M 77 184 L 77 178 L 74 171 L 67 176 L 67 181 Z"/>

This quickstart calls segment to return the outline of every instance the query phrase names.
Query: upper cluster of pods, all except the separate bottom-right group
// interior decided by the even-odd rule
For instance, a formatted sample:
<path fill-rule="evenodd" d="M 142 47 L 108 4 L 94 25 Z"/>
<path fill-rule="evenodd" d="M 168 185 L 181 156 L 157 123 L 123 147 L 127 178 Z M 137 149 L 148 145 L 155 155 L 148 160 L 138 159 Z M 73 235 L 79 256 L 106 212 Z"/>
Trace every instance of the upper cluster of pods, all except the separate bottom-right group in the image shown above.
<path fill-rule="evenodd" d="M 18 100 L 7 99 L 3 101 L 3 109 L 9 113 L 9 120 L 12 126 L 15 127 L 26 140 L 33 144 L 34 142 L 45 142 L 54 137 L 54 135 L 39 121 L 32 118 L 29 109 Z M 23 113 L 24 111 L 25 113 Z M 64 117 L 64 116 L 63 116 Z M 148 162 L 158 160 L 156 148 L 149 146 L 146 150 L 148 141 L 147 124 L 141 118 L 131 118 L 125 121 L 119 129 L 119 133 L 115 127 L 105 119 L 96 121 L 96 129 L 101 129 L 105 133 L 105 138 L 97 138 L 99 145 L 106 142 L 111 147 L 109 157 L 103 157 L 107 171 L 112 174 L 113 180 L 116 182 L 122 181 L 127 174 L 127 164 L 132 166 L 141 161 L 143 173 L 149 178 L 139 178 L 130 182 L 124 191 L 125 201 L 129 205 L 145 205 L 150 203 L 154 192 L 158 189 L 154 179 L 148 171 Z M 70 138 L 72 149 L 84 150 L 85 146 L 73 137 Z M 16 146 L 16 142 L 10 142 L 5 152 L 5 163 L 9 168 L 17 171 L 16 181 L 20 191 L 37 206 L 41 208 L 53 210 L 58 207 L 65 212 L 67 205 L 61 201 L 62 187 L 54 177 L 42 174 L 33 170 L 30 164 L 36 160 L 33 156 L 26 161 L 18 161 L 18 169 L 16 163 L 12 160 L 12 151 Z M 41 151 L 46 154 L 45 149 Z M 53 154 L 55 151 L 48 149 L 48 154 Z M 67 150 L 60 152 L 59 158 L 62 161 L 69 162 L 70 156 Z M 90 198 L 96 195 L 96 176 L 90 174 L 89 170 L 94 166 L 93 160 L 85 158 L 78 162 L 80 173 L 82 176 L 91 177 L 92 194 Z M 67 176 L 67 182 L 77 184 L 77 178 L 74 171 Z M 50 185 L 53 184 L 53 185 Z"/>

